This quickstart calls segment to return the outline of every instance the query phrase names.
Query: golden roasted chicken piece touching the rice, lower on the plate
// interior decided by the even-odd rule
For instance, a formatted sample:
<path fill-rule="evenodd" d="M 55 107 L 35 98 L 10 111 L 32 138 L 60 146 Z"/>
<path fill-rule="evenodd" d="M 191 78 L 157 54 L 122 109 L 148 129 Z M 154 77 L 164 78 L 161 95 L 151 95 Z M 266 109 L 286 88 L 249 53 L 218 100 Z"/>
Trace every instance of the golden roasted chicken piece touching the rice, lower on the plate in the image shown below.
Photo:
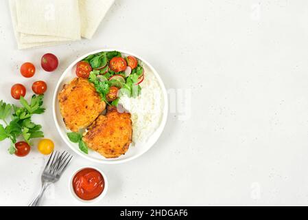
<path fill-rule="evenodd" d="M 106 158 L 125 154 L 132 143 L 130 113 L 119 113 L 117 108 L 108 107 L 106 115 L 100 115 L 88 128 L 83 140 L 89 148 Z"/>

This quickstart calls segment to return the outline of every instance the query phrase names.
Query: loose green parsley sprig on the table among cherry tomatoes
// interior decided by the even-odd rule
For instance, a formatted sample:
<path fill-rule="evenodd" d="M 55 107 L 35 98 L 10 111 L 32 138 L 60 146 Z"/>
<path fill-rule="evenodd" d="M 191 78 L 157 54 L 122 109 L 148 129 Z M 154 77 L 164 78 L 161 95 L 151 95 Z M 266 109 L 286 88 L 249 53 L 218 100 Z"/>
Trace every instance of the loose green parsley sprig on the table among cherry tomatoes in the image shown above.
<path fill-rule="evenodd" d="M 43 95 L 32 96 L 31 102 L 28 103 L 25 98 L 21 96 L 20 103 L 22 107 L 16 107 L 14 104 L 7 104 L 0 101 L 0 142 L 9 138 L 11 140 L 10 154 L 16 152 L 15 144 L 18 137 L 23 137 L 23 140 L 30 144 L 30 140 L 37 137 L 44 137 L 42 126 L 32 122 L 32 115 L 42 114 L 45 112 L 43 105 Z M 11 120 L 8 123 L 8 118 Z"/>

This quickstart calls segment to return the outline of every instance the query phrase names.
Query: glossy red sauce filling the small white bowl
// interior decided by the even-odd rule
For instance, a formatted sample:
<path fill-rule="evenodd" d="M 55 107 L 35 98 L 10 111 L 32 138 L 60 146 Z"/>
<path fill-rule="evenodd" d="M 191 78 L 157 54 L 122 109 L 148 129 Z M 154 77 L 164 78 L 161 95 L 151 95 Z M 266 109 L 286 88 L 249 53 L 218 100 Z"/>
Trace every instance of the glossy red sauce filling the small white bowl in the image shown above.
<path fill-rule="evenodd" d="M 104 188 L 104 177 L 93 168 L 84 168 L 73 177 L 73 189 L 80 199 L 95 199 L 102 194 Z"/>

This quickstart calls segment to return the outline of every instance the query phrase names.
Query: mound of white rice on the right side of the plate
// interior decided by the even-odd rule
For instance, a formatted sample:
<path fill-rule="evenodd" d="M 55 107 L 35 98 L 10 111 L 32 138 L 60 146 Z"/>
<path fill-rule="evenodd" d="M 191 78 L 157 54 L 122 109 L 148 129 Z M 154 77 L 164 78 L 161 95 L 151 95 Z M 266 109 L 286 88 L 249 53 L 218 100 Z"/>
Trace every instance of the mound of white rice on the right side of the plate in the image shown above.
<path fill-rule="evenodd" d="M 158 128 L 163 115 L 163 92 L 156 76 L 144 67 L 145 79 L 137 98 L 122 96 L 119 103 L 132 115 L 132 142 L 146 142 Z"/>

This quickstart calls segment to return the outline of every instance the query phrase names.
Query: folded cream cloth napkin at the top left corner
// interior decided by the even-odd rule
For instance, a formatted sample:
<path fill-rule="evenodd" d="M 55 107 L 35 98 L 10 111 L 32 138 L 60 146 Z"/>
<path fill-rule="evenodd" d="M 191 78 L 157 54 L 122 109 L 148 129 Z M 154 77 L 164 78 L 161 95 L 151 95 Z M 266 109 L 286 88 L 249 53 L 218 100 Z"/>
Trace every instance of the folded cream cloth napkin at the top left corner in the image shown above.
<path fill-rule="evenodd" d="M 115 0 L 10 0 L 20 50 L 91 39 Z"/>

